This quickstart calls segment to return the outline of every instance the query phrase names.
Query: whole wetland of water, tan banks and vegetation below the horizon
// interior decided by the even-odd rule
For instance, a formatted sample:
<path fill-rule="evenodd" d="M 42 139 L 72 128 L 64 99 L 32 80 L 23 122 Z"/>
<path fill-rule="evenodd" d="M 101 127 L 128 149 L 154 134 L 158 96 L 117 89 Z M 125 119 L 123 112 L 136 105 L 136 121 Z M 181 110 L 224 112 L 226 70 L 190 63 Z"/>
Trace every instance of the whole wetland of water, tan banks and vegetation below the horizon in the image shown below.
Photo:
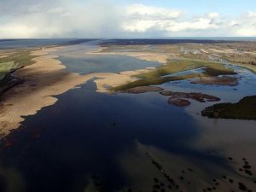
<path fill-rule="evenodd" d="M 255 97 L 256 75 L 247 67 L 254 67 L 254 46 L 37 45 L 14 73 L 12 65 L 23 62 L 1 50 L 0 69 L 8 60 L 5 73 L 24 82 L 1 96 L 0 191 L 254 191 L 256 121 L 201 115 Z M 229 59 L 241 55 L 251 56 Z"/>

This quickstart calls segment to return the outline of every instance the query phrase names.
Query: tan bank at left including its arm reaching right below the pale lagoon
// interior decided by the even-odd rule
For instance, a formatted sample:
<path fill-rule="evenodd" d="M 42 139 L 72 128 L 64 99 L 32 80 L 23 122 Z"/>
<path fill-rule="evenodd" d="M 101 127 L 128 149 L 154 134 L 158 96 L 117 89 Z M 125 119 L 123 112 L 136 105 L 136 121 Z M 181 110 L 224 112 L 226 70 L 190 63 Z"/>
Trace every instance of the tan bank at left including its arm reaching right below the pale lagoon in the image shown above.
<path fill-rule="evenodd" d="M 37 49 L 30 55 L 34 64 L 21 67 L 11 73 L 15 79 L 23 81 L 1 95 L 0 101 L 0 137 L 20 127 L 26 116 L 38 113 L 42 108 L 54 105 L 59 96 L 67 90 L 75 89 L 79 84 L 96 78 L 97 92 L 109 93 L 108 86 L 118 86 L 137 80 L 132 75 L 145 73 L 150 69 L 125 71 L 121 73 L 90 73 L 81 75 L 65 71 L 65 65 L 50 55 L 62 46 Z M 118 79 L 118 80 L 117 80 Z"/>

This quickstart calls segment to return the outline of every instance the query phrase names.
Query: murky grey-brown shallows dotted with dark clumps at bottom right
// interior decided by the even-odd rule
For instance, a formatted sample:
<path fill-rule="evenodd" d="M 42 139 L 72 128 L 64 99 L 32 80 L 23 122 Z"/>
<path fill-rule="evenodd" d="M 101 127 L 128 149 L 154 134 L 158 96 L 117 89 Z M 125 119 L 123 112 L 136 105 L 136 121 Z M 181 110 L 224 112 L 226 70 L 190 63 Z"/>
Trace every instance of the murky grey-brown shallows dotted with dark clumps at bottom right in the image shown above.
<path fill-rule="evenodd" d="M 172 154 L 136 142 L 134 151 L 119 157 L 119 164 L 131 182 L 129 188 L 146 191 L 254 191 L 254 122 L 238 120 L 234 124 L 232 120 L 219 120 L 214 124 L 212 119 L 196 116 L 201 134 L 187 143 L 206 158 Z M 143 166 L 136 169 L 134 163 Z"/>

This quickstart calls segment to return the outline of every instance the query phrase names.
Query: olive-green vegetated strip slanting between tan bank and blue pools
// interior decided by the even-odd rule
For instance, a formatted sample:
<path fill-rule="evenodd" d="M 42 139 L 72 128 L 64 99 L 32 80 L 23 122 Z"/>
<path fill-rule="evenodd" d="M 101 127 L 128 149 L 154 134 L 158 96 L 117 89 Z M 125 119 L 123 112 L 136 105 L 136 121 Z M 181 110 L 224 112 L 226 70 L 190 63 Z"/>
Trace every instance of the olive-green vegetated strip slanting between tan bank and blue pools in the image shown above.
<path fill-rule="evenodd" d="M 163 77 L 173 73 L 183 72 L 190 69 L 205 67 L 204 73 L 189 73 L 179 76 Z M 191 79 L 196 77 L 215 77 L 218 75 L 236 74 L 233 69 L 226 68 L 222 63 L 195 60 L 173 60 L 168 61 L 165 66 L 156 68 L 152 72 L 136 75 L 137 81 L 129 84 L 113 87 L 111 90 L 127 90 L 138 86 L 148 86 L 153 84 L 163 84 L 169 81 Z"/>

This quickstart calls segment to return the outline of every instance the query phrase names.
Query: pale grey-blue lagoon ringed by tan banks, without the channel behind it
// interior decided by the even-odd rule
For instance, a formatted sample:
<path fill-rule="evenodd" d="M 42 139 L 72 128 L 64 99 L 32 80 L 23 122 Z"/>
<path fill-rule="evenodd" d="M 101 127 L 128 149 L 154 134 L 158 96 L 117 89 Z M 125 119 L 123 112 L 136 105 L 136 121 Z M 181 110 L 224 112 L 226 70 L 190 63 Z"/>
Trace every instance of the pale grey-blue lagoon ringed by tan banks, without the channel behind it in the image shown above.
<path fill-rule="evenodd" d="M 125 55 L 84 55 L 82 58 L 60 56 L 59 60 L 67 67 L 67 71 L 75 73 L 119 73 L 158 67 L 159 62 L 138 60 Z"/>

